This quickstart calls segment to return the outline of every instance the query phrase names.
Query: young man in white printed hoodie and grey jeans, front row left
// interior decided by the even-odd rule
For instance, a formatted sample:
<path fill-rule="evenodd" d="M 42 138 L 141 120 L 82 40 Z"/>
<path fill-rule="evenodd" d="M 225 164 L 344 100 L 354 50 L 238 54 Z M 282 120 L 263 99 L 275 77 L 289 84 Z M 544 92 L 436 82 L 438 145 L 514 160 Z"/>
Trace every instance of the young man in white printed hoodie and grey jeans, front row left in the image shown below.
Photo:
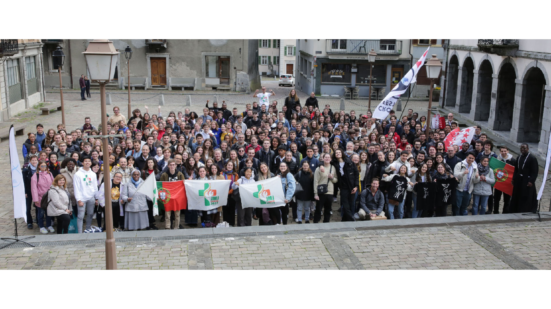
<path fill-rule="evenodd" d="M 83 167 L 77 170 L 73 176 L 74 198 L 77 200 L 77 228 L 78 233 L 82 233 L 82 225 L 84 219 L 84 210 L 88 213 L 86 217 L 86 229 L 89 230 L 92 225 L 92 217 L 94 216 L 94 205 L 98 201 L 94 198 L 94 194 L 98 191 L 98 178 L 90 166 L 92 159 L 84 157 L 82 159 Z"/>

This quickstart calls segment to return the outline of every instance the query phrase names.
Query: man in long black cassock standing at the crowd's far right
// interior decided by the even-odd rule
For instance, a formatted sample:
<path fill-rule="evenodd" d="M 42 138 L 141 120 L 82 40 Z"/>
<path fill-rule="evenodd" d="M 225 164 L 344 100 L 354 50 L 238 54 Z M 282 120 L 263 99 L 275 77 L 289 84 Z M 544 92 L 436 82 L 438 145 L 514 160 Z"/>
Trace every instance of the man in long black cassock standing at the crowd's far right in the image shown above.
<path fill-rule="evenodd" d="M 526 143 L 520 145 L 520 153 L 516 159 L 513 174 L 513 194 L 511 196 L 511 213 L 536 212 L 536 178 L 538 176 L 538 160 L 530 153 Z"/>

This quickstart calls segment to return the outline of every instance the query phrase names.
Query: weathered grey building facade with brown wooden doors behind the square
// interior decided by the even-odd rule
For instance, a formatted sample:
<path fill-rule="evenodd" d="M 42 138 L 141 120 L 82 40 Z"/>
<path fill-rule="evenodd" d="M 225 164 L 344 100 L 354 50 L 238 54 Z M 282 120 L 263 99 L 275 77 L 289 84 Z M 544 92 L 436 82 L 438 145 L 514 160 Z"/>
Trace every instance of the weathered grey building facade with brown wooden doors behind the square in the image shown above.
<path fill-rule="evenodd" d="M 81 74 L 87 75 L 82 54 L 90 40 L 45 40 L 45 87 L 59 87 L 52 52 L 57 46 L 66 55 L 62 71 L 64 88 L 78 89 Z M 130 82 L 134 88 L 250 91 L 260 86 L 258 40 L 117 39 L 115 79 L 108 87 L 128 85 L 125 48 L 130 46 Z"/>

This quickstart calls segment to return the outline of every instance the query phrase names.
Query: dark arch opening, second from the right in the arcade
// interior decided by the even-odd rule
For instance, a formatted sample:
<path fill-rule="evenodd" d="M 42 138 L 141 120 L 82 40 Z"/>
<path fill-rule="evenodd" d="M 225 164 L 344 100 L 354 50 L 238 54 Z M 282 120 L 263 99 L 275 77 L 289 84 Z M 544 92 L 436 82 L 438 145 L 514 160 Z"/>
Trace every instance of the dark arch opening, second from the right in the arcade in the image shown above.
<path fill-rule="evenodd" d="M 501 63 L 498 70 L 498 89 L 496 91 L 493 130 L 510 130 L 515 109 L 515 79 L 517 70 L 514 62 Z"/>

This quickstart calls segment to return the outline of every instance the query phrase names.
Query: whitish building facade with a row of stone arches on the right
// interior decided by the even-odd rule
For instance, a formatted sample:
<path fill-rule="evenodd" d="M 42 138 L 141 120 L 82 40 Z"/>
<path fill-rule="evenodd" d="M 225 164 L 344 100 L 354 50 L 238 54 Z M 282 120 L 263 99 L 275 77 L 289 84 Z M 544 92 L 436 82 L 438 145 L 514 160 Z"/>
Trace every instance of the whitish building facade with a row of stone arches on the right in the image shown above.
<path fill-rule="evenodd" d="M 551 40 L 449 42 L 441 106 L 514 144 L 527 142 L 544 157 L 551 131 Z"/>

